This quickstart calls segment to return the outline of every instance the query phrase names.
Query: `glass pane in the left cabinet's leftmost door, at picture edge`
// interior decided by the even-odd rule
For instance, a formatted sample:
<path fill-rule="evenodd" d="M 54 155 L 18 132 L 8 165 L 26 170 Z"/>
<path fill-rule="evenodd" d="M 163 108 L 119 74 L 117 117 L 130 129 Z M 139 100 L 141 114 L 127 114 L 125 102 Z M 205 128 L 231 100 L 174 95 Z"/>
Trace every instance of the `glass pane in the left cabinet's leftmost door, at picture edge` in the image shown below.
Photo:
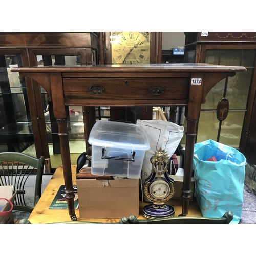
<path fill-rule="evenodd" d="M 1 53 L 0 53 L 1 54 Z M 0 55 L 0 152 L 23 152 L 34 143 L 21 54 Z"/>

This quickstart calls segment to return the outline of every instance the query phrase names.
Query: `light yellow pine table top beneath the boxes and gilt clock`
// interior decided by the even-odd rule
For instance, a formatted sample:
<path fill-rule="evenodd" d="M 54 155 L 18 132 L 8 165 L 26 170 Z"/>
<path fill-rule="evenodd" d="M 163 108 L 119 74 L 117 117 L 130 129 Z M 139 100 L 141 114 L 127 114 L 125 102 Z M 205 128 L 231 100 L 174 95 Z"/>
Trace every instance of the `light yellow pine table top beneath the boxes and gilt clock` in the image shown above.
<path fill-rule="evenodd" d="M 72 180 L 73 185 L 76 185 L 76 165 L 71 166 L 72 169 Z M 48 183 L 47 187 L 42 193 L 41 198 L 36 204 L 34 210 L 32 211 L 29 221 L 31 223 L 54 223 L 54 222 L 65 222 L 70 221 L 68 210 L 49 210 L 49 206 L 53 201 L 59 187 L 64 185 L 63 169 L 59 166 L 52 176 L 52 179 Z M 175 208 L 175 217 L 178 217 L 182 212 L 182 200 L 169 200 L 167 202 Z M 142 209 L 148 203 L 140 202 L 140 215 L 138 219 L 146 219 L 142 216 Z M 118 223 L 118 219 L 80 219 L 79 209 L 75 210 L 76 217 L 78 221 L 89 221 L 89 222 L 108 222 L 108 223 Z M 190 201 L 189 212 L 187 216 L 202 216 L 200 208 L 196 201 Z"/>

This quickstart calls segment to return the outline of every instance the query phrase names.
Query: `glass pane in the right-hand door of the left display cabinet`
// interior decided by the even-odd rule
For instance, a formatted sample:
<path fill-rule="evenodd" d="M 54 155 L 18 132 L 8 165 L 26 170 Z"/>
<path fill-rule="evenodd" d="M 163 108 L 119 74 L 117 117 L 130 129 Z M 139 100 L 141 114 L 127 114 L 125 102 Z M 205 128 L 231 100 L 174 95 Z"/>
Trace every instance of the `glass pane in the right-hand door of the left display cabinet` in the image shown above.
<path fill-rule="evenodd" d="M 39 51 L 33 51 L 33 53 Z M 60 55 L 59 51 L 56 54 L 49 54 L 47 50 L 41 51 L 42 55 L 35 55 L 37 66 L 54 66 L 54 65 L 80 65 L 81 55 Z M 47 92 L 41 88 L 42 108 L 44 110 L 47 140 L 49 154 L 51 159 L 51 167 L 56 168 L 61 165 L 60 142 L 58 136 L 58 125 L 54 118 L 52 102 L 48 101 Z M 67 106 L 68 116 L 68 132 L 72 164 L 76 163 L 78 156 L 86 150 L 84 142 L 84 125 L 81 106 Z M 30 148 L 28 153 L 32 154 L 34 148 Z"/>

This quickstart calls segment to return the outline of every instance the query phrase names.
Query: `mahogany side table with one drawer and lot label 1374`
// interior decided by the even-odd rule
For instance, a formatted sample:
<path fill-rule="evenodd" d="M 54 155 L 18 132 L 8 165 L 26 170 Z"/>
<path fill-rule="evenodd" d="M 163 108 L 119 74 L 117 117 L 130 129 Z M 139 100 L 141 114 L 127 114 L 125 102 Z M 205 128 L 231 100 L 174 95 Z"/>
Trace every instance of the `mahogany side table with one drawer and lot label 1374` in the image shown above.
<path fill-rule="evenodd" d="M 184 106 L 187 120 L 183 206 L 188 214 L 194 144 L 200 105 L 217 82 L 246 71 L 245 67 L 207 64 L 81 65 L 17 67 L 12 72 L 41 84 L 53 103 L 58 123 L 69 215 L 76 221 L 65 106 Z M 27 86 L 27 90 L 31 90 Z M 29 95 L 29 94 L 28 94 Z M 86 140 L 89 114 L 83 112 Z"/>

